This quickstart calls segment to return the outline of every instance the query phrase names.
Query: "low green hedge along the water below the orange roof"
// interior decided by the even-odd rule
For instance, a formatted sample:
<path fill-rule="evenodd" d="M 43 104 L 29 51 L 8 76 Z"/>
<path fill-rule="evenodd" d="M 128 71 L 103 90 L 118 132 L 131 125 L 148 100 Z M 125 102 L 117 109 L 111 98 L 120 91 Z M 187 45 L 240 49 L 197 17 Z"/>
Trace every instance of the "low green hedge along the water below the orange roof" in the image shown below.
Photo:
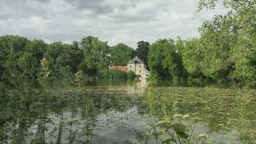
<path fill-rule="evenodd" d="M 113 70 L 100 70 L 97 72 L 97 76 L 100 79 L 127 79 L 127 73 L 124 71 Z"/>

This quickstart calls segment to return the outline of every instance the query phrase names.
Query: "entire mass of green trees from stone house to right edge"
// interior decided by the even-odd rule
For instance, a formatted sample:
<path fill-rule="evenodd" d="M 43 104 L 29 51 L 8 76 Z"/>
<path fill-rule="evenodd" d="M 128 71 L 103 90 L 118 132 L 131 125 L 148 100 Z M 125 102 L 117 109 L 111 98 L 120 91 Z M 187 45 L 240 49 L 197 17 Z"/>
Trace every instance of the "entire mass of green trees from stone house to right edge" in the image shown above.
<path fill-rule="evenodd" d="M 217 2 L 201 0 L 197 12 L 213 9 Z M 151 76 L 256 84 L 256 2 L 222 2 L 229 12 L 205 21 L 199 39 L 159 39 L 151 44 Z"/>

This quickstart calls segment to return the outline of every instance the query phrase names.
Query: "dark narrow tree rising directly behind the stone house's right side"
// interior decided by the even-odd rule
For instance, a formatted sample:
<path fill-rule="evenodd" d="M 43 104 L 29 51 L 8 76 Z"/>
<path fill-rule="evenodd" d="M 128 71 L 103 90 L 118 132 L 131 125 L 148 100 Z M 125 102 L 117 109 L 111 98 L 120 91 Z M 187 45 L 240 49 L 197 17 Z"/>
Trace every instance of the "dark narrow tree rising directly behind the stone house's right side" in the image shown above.
<path fill-rule="evenodd" d="M 148 53 L 149 53 L 149 42 L 139 41 L 137 42 L 137 49 L 135 50 L 136 56 L 143 60 L 146 67 L 148 68 Z"/>

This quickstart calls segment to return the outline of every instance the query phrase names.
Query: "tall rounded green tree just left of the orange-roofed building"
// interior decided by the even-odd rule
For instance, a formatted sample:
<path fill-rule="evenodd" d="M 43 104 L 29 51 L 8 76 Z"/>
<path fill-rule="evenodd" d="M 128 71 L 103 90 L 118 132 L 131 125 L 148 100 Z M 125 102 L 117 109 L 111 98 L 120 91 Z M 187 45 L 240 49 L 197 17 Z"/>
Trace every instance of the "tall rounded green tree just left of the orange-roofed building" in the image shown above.
<path fill-rule="evenodd" d="M 78 69 L 84 72 L 96 73 L 100 69 L 107 69 L 110 65 L 110 47 L 107 41 L 98 40 L 97 37 L 88 36 L 79 43 L 84 52 L 84 59 L 78 65 Z"/>

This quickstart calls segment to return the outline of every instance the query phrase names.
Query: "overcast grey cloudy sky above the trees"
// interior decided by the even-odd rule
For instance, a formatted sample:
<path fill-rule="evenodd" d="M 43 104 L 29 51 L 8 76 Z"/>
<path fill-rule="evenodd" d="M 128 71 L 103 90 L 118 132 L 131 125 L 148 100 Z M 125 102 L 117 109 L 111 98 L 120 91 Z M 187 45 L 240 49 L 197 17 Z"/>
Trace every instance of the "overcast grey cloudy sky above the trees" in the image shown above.
<path fill-rule="evenodd" d="M 47 43 L 95 36 L 110 46 L 159 38 L 199 37 L 198 28 L 223 7 L 195 15 L 199 0 L 0 0 L 0 36 Z"/>

